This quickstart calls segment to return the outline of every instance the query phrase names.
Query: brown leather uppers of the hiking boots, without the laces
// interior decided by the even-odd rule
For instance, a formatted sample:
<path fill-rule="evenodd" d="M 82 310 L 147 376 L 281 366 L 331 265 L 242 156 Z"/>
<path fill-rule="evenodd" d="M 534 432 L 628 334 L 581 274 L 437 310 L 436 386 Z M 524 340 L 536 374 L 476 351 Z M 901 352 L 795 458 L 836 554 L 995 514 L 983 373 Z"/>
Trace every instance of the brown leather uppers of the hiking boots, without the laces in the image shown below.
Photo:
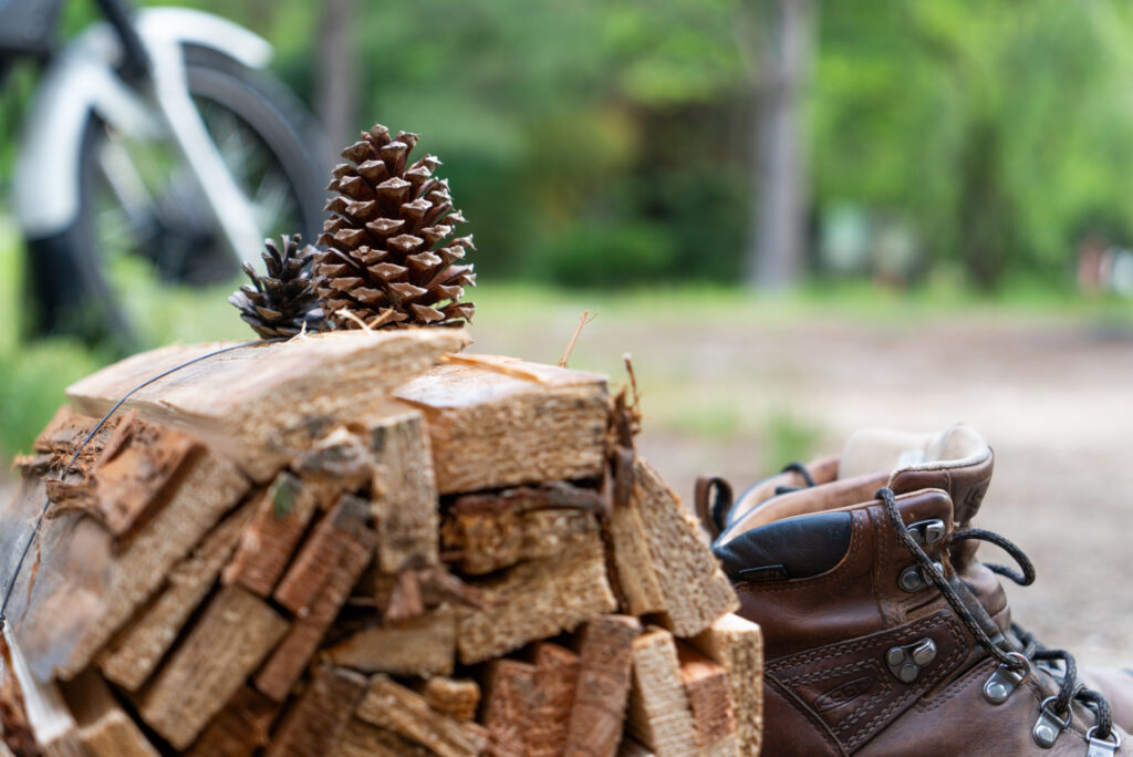
<path fill-rule="evenodd" d="M 874 499 L 887 484 L 906 526 L 939 519 L 946 534 L 936 544 L 947 544 L 978 512 L 993 466 L 990 449 L 986 454 L 977 449 L 952 465 L 930 460 L 840 478 L 840 458 L 826 458 L 808 468 L 816 486 L 776 494 L 806 484 L 801 474 L 789 471 L 735 503 L 715 548 L 736 580 L 740 614 L 764 631 L 764 754 L 1087 754 L 1085 731 L 1094 720 L 1079 703 L 1053 748 L 1040 748 L 1031 734 L 1040 704 L 1055 694 L 1057 680 L 1049 673 L 1037 670 L 1002 704 L 985 697 L 998 663 L 935 585 L 902 585 L 915 560 Z M 847 536 L 829 527 L 834 513 L 837 522 L 849 522 Z M 826 527 L 808 522 L 824 517 Z M 813 538 L 804 538 L 808 533 Z M 791 551 L 803 554 L 785 556 L 786 547 L 769 543 L 776 534 L 790 535 Z M 1019 649 L 1006 595 L 998 577 L 976 560 L 978 544 L 961 541 L 926 552 L 939 561 L 978 626 Z M 783 570 L 757 570 L 746 580 L 746 562 Z M 887 657 L 894 649 L 928 646 L 931 660 L 915 675 L 894 672 Z M 1133 722 L 1133 674 L 1085 671 L 1080 678 L 1108 696 L 1117 723 Z M 1115 754 L 1130 755 L 1128 745 Z"/>

